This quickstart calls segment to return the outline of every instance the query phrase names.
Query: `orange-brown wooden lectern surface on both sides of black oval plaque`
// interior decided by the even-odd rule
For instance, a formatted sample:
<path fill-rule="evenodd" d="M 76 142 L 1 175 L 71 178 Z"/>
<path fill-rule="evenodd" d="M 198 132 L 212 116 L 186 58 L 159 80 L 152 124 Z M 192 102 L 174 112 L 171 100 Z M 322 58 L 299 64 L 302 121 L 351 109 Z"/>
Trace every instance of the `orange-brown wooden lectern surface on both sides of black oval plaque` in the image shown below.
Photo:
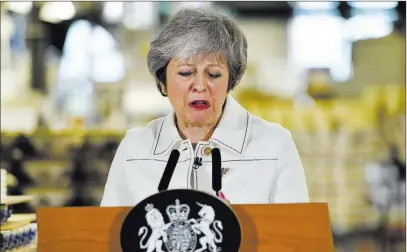
<path fill-rule="evenodd" d="M 232 205 L 232 208 L 243 229 L 240 251 L 334 251 L 325 203 Z M 130 209 L 38 209 L 38 251 L 120 252 L 121 224 Z"/>

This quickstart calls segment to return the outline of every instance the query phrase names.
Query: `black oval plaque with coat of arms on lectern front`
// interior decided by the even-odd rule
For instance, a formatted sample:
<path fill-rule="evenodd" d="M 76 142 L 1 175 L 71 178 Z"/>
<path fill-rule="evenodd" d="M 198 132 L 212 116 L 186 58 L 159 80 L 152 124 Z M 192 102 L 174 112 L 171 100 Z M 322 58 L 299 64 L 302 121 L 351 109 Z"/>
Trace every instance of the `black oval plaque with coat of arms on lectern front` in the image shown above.
<path fill-rule="evenodd" d="M 135 206 L 120 239 L 124 252 L 237 252 L 241 229 L 222 200 L 194 190 L 169 190 Z"/>

